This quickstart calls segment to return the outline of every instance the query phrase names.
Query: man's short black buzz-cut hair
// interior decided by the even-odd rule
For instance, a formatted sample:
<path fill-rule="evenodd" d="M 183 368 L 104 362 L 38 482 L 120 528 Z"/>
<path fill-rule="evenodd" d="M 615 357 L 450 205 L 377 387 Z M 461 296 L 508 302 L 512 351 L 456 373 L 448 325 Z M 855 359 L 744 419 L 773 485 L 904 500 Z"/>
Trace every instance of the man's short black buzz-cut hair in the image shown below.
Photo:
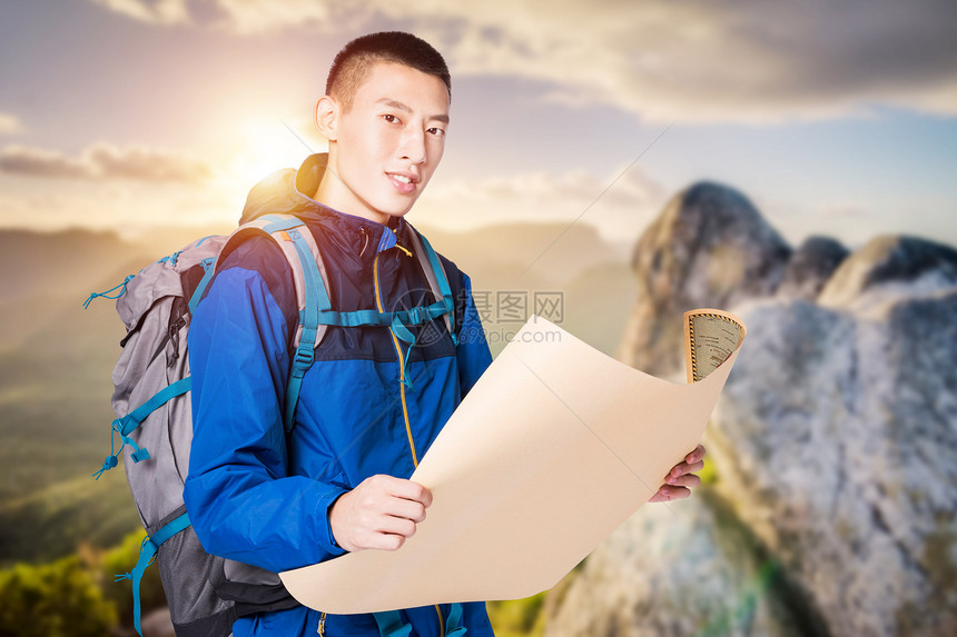
<path fill-rule="evenodd" d="M 405 31 L 379 31 L 352 40 L 336 53 L 326 94 L 338 99 L 346 110 L 376 62 L 394 62 L 435 76 L 445 83 L 452 101 L 452 76 L 445 59 L 425 40 Z"/>

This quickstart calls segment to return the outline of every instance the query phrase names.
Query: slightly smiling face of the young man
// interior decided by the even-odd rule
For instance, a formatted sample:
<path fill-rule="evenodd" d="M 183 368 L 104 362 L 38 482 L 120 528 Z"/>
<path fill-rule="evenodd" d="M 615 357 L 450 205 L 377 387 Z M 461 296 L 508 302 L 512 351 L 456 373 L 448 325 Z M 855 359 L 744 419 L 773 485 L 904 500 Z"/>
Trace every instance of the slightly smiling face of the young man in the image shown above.
<path fill-rule="evenodd" d="M 445 83 L 406 66 L 379 62 L 338 111 L 323 203 L 379 222 L 412 209 L 442 160 L 448 127 Z"/>

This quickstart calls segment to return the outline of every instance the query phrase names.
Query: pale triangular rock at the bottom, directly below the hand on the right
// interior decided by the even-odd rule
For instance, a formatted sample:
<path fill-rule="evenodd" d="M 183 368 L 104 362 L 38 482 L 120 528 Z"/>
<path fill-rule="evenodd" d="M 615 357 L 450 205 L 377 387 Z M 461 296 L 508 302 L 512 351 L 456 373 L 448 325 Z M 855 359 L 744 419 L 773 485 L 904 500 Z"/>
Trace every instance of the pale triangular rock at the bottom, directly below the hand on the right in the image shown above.
<path fill-rule="evenodd" d="M 612 534 L 571 580 L 545 635 L 815 634 L 806 609 L 790 606 L 780 565 L 713 490 L 697 496 L 643 507 Z"/>

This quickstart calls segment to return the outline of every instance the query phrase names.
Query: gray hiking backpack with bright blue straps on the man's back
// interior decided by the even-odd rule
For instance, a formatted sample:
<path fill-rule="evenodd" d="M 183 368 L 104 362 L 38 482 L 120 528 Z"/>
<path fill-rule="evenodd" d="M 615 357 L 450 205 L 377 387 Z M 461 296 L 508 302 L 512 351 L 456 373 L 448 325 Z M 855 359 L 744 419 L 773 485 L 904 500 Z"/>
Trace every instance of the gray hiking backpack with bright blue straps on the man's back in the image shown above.
<path fill-rule="evenodd" d="M 216 260 L 250 233 L 272 238 L 294 277 L 300 325 L 284 405 L 292 430 L 303 377 L 328 325 L 418 325 L 442 317 L 454 337 L 454 303 L 444 269 L 424 237 L 413 231 L 413 249 L 433 297 L 426 307 L 397 312 L 338 312 L 329 307 L 326 272 L 313 233 L 288 215 L 266 215 L 230 237 L 207 237 L 144 268 L 97 296 L 117 300 L 127 335 L 112 372 L 110 455 L 93 477 L 116 467 L 124 447 L 127 480 L 147 537 L 136 567 L 119 579 L 134 585 L 134 621 L 140 635 L 139 583 L 157 561 L 178 637 L 229 635 L 244 615 L 296 606 L 276 574 L 207 554 L 190 526 L 182 486 L 193 441 L 187 330 L 191 310 L 213 278 Z M 117 293 L 111 295 L 111 292 Z M 356 315 L 356 316 L 351 316 Z M 374 316 L 375 315 L 375 316 Z M 115 447 L 116 435 L 121 445 Z"/>

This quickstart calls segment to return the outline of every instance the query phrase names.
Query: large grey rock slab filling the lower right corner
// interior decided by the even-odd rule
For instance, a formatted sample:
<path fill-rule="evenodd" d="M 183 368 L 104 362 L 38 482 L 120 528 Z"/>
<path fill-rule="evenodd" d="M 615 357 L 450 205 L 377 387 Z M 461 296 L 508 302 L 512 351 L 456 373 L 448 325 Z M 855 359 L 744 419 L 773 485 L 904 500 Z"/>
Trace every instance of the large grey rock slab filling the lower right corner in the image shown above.
<path fill-rule="evenodd" d="M 957 634 L 957 291 L 746 312 L 719 489 L 833 635 Z"/>

